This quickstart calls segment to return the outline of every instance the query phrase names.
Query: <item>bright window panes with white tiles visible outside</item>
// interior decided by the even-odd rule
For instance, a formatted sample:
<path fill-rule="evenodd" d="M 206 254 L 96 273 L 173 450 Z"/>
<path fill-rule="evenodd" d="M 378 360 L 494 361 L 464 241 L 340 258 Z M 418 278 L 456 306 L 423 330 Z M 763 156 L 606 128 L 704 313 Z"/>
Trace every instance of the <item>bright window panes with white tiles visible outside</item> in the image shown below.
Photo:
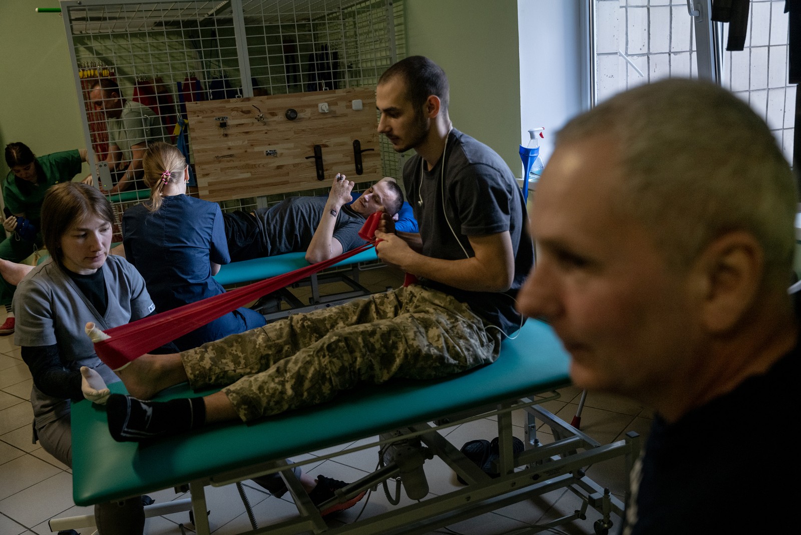
<path fill-rule="evenodd" d="M 795 85 L 788 82 L 785 0 L 751 0 L 744 50 L 723 53 L 721 85 L 751 104 L 793 161 Z M 686 0 L 595 0 L 595 102 L 659 78 L 698 78 Z M 718 24 L 727 43 L 729 25 Z"/>

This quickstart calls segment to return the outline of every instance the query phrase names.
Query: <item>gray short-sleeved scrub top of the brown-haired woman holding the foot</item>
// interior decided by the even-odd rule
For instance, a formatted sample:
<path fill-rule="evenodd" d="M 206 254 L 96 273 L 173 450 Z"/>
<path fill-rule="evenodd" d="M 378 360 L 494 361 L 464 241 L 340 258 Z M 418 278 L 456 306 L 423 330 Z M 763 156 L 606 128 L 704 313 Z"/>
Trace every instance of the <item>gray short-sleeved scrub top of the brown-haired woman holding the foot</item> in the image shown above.
<path fill-rule="evenodd" d="M 88 321 L 101 330 L 139 320 L 155 310 L 139 272 L 122 256 L 109 255 L 103 263 L 108 306 L 100 316 L 53 259 L 34 268 L 14 292 L 14 344 L 27 347 L 58 346 L 58 355 L 68 368 L 87 366 L 103 376 L 106 383 L 119 377 L 95 354 L 84 331 Z M 34 416 L 45 424 L 70 412 L 70 400 L 47 396 L 34 386 L 30 393 Z"/>

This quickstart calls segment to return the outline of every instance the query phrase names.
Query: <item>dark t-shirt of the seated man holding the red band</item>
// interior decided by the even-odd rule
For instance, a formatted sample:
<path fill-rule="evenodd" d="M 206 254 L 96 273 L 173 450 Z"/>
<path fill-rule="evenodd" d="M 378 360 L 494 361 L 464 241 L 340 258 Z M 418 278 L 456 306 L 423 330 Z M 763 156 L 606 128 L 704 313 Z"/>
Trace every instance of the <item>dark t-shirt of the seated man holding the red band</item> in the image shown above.
<path fill-rule="evenodd" d="M 468 236 L 509 231 L 514 254 L 514 280 L 507 292 L 469 292 L 433 280 L 429 288 L 448 293 L 506 334 L 520 328 L 514 299 L 533 265 L 534 249 L 526 221 L 525 199 L 501 156 L 455 129 L 448 136 L 443 159 L 431 171 L 415 155 L 404 167 L 407 199 L 414 209 L 423 242 L 422 253 L 438 259 L 474 256 Z M 422 200 L 422 206 L 419 201 Z"/>

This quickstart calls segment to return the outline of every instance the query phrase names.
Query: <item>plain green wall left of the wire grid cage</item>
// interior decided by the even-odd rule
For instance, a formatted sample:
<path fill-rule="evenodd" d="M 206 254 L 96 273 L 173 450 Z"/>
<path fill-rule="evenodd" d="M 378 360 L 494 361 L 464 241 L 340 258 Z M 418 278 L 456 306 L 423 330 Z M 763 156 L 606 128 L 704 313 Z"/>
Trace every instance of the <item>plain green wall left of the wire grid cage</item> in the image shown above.
<path fill-rule="evenodd" d="M 64 22 L 57 0 L 0 1 L 0 144 L 21 141 L 36 155 L 83 148 Z M 85 176 L 89 167 L 84 164 Z M 8 173 L 0 159 L 0 175 Z"/>

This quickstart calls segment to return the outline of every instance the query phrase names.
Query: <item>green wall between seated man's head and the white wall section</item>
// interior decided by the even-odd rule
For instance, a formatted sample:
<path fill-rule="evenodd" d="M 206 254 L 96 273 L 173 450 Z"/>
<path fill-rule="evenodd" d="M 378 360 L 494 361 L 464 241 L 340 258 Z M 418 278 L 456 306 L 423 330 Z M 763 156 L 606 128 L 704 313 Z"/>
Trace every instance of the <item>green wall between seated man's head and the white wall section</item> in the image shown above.
<path fill-rule="evenodd" d="M 405 0 L 406 53 L 445 69 L 453 127 L 521 169 L 517 0 Z"/>

